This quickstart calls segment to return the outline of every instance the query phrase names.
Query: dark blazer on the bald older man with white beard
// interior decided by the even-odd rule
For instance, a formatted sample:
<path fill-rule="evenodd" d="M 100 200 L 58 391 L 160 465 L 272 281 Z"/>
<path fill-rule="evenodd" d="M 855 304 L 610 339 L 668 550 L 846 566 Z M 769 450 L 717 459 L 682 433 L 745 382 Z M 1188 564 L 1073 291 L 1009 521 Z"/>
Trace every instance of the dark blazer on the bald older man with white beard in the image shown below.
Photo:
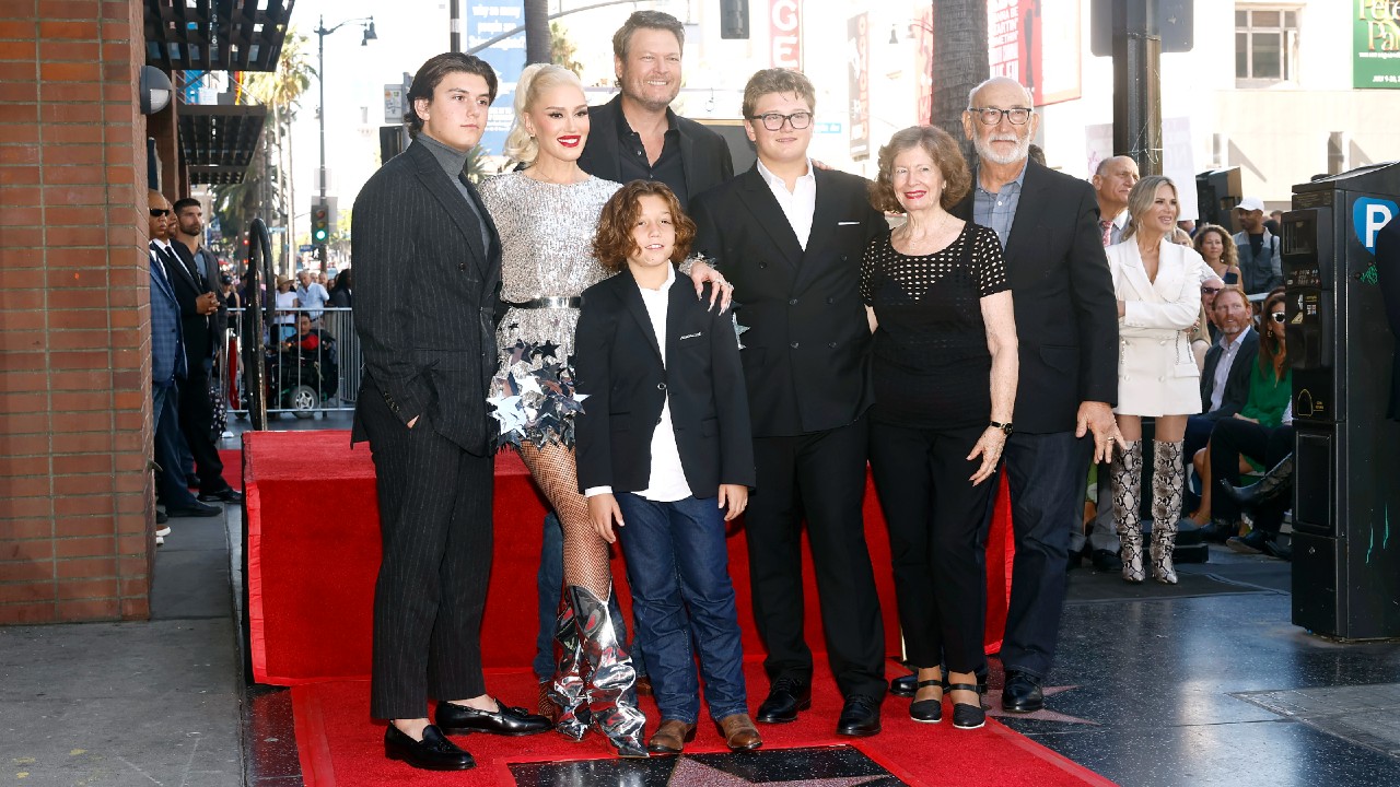
<path fill-rule="evenodd" d="M 973 218 L 976 183 L 973 172 L 959 218 Z M 1005 255 L 1021 346 L 1016 431 L 1072 431 L 1081 402 L 1119 399 L 1117 298 L 1089 183 L 1026 161 Z"/>

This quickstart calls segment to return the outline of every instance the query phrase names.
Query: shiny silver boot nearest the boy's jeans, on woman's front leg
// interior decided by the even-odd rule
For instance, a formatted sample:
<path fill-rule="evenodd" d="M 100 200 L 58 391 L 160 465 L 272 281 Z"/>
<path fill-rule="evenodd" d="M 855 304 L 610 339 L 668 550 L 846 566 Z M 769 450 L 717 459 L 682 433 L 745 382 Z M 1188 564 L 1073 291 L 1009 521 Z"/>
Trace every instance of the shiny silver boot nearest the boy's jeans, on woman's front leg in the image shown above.
<path fill-rule="evenodd" d="M 622 758 L 644 758 L 647 717 L 637 707 L 637 671 L 613 629 L 608 602 L 587 588 L 570 585 L 578 636 L 592 674 L 588 678 L 588 710 L 592 725 L 608 737 Z"/>

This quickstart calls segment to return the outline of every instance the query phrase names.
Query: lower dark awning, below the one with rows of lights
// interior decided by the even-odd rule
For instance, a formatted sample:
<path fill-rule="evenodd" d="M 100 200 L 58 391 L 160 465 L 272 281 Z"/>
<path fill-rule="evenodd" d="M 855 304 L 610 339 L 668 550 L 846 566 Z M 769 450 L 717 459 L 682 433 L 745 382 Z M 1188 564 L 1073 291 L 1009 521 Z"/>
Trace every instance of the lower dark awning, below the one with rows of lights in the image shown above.
<path fill-rule="evenodd" d="M 186 104 L 179 108 L 181 158 L 190 183 L 239 183 L 258 153 L 267 108 Z"/>

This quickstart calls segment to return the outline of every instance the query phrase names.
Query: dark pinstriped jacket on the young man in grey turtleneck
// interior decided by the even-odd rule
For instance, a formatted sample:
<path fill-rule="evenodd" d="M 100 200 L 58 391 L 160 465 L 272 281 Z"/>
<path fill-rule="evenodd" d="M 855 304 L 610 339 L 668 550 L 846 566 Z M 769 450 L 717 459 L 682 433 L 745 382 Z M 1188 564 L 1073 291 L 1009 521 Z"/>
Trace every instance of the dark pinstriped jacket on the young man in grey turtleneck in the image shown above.
<path fill-rule="evenodd" d="M 498 363 L 491 315 L 501 249 L 476 189 L 470 193 L 475 213 L 433 153 L 414 141 L 354 200 L 354 326 L 365 375 L 351 441 L 368 438 L 360 423 L 365 398 L 382 396 L 403 423 L 424 416 L 472 454 L 494 447 L 486 394 Z"/>

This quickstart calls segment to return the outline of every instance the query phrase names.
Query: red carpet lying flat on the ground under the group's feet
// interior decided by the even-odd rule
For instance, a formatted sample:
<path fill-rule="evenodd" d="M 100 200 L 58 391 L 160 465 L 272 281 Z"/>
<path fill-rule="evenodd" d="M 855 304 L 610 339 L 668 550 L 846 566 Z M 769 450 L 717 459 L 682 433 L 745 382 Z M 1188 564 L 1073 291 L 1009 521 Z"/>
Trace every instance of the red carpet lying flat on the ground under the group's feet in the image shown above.
<path fill-rule="evenodd" d="M 759 662 L 746 665 L 750 707 L 767 690 Z M 487 675 L 493 693 L 512 704 L 533 704 L 535 679 L 528 672 Z M 426 773 L 384 758 L 384 725 L 370 720 L 370 683 L 337 681 L 300 685 L 291 689 L 297 725 L 297 746 L 302 779 L 308 787 L 370 787 L 379 784 L 452 784 L 461 787 L 511 786 L 511 762 L 556 762 L 610 758 L 603 739 L 589 732 L 580 744 L 546 732 L 528 738 L 468 735 L 455 741 L 472 752 L 477 766 L 465 773 Z M 953 730 L 944 709 L 942 724 L 916 724 L 909 718 L 909 700 L 890 697 L 883 707 L 885 731 L 872 738 L 841 738 L 834 734 L 841 700 L 825 665 L 818 665 L 812 710 L 792 724 L 762 725 L 764 749 L 850 745 L 909 784 L 998 787 L 1112 786 L 1112 781 L 1046 749 L 1029 738 L 988 720 L 974 731 Z M 644 697 L 650 720 L 658 718 L 655 704 Z M 701 709 L 699 735 L 686 745 L 687 753 L 724 752 L 724 741 L 707 711 Z M 762 752 L 757 755 L 762 756 Z"/>

